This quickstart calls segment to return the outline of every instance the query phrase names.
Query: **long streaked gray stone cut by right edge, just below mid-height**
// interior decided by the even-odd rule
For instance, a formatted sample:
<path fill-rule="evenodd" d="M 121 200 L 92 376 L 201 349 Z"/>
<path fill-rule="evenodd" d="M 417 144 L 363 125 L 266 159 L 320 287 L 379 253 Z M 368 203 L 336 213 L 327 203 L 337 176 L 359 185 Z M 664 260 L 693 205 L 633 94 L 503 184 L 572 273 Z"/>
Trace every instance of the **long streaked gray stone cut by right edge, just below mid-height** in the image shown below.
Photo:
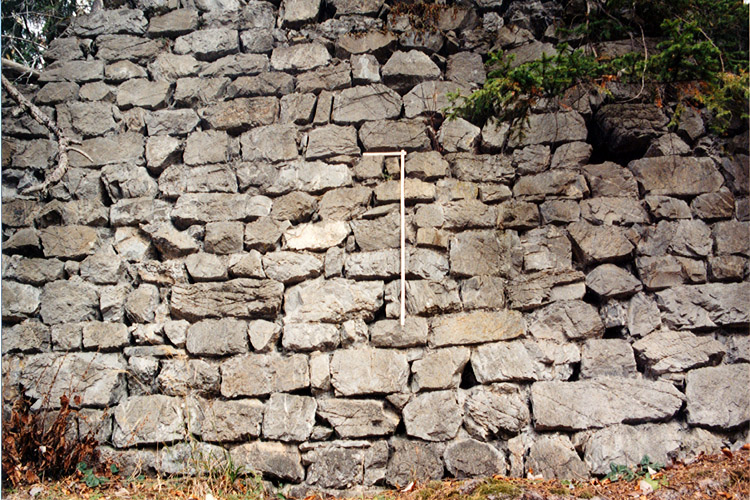
<path fill-rule="evenodd" d="M 664 322 L 675 329 L 702 329 L 750 323 L 750 284 L 712 283 L 657 292 Z"/>

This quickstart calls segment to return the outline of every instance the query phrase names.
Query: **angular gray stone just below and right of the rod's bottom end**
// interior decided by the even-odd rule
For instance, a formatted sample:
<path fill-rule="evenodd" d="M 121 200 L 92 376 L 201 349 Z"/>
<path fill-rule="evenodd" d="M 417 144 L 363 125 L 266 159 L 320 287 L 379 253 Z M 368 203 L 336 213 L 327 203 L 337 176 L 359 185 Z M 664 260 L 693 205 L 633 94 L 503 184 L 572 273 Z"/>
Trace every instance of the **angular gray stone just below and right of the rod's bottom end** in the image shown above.
<path fill-rule="evenodd" d="M 457 389 L 468 362 L 469 349 L 465 347 L 428 352 L 412 364 L 412 390 Z"/>

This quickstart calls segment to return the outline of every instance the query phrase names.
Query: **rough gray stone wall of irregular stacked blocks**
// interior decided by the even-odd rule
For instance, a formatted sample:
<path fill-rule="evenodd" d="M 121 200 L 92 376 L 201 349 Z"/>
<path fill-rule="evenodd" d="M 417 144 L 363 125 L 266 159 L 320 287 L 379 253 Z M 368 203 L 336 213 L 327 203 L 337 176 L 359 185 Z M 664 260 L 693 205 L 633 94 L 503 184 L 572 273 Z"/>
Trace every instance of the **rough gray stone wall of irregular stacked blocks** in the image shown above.
<path fill-rule="evenodd" d="M 476 1 L 436 31 L 383 0 L 76 18 L 20 85 L 86 153 L 43 197 L 56 145 L 3 95 L 6 409 L 76 394 L 126 468 L 226 450 L 296 492 L 746 440 L 747 131 L 617 84 L 522 135 L 443 121 L 489 50 L 555 41 L 555 2 Z"/>

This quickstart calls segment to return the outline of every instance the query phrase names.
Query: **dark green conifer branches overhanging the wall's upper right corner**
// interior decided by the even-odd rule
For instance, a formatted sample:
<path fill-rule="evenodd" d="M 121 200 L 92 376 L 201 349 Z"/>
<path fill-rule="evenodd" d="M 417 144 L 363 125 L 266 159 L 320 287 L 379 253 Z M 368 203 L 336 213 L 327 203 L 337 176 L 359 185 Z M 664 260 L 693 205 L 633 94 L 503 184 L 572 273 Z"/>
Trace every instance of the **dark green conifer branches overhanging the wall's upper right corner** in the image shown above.
<path fill-rule="evenodd" d="M 593 5 L 592 5 L 593 4 Z M 513 64 L 513 56 L 492 53 L 483 88 L 454 96 L 453 117 L 483 124 L 488 119 L 518 120 L 543 97 L 571 88 L 607 82 L 640 83 L 657 102 L 677 102 L 673 121 L 685 106 L 702 105 L 713 114 L 712 128 L 726 132 L 746 120 L 748 84 L 748 7 L 740 0 L 606 0 L 587 2 L 582 16 L 570 15 L 567 39 L 554 55 Z M 641 50 L 616 57 L 597 53 L 598 43 L 635 38 Z M 646 38 L 656 37 L 656 53 Z"/>

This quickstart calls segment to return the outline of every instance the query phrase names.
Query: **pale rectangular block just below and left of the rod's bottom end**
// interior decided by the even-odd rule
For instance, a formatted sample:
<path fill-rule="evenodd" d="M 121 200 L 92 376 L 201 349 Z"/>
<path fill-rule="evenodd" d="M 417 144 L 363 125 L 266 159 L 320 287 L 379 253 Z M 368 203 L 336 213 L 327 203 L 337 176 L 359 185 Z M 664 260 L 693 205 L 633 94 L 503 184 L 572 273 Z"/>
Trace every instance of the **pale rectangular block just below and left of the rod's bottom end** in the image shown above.
<path fill-rule="evenodd" d="M 331 384 L 342 396 L 402 392 L 408 378 L 409 364 L 399 351 L 362 347 L 331 357 Z"/>

